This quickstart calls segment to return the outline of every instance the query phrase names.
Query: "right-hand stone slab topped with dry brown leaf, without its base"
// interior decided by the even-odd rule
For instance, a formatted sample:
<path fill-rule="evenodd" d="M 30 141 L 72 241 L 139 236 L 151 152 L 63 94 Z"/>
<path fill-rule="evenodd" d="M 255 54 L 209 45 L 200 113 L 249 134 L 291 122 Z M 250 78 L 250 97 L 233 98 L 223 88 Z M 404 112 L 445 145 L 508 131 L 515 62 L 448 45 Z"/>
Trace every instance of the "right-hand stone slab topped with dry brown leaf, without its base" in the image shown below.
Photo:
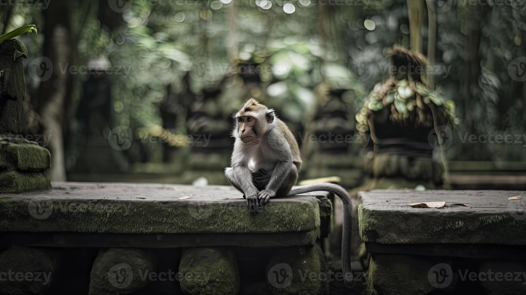
<path fill-rule="evenodd" d="M 373 190 L 360 192 L 360 236 L 381 244 L 486 243 L 526 245 L 523 191 Z M 412 208 L 410 203 L 468 203 Z"/>

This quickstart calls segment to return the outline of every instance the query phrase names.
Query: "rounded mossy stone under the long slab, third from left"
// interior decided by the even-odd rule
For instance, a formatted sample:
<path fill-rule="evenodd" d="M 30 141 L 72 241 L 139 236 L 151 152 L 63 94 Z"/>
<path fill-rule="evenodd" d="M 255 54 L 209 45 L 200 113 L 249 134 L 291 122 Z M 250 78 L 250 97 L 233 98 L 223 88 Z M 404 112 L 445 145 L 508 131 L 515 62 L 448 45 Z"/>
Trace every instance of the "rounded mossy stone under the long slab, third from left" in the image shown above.
<path fill-rule="evenodd" d="M 227 248 L 186 248 L 179 272 L 185 294 L 237 294 L 239 273 L 234 252 Z"/>

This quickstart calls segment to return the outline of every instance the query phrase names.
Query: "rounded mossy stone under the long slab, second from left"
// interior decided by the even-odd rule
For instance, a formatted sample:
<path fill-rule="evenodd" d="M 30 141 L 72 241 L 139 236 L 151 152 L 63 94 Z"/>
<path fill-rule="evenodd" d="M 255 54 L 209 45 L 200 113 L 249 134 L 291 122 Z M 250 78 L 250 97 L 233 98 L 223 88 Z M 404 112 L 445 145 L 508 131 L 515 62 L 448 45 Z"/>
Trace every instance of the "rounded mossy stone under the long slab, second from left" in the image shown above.
<path fill-rule="evenodd" d="M 149 273 L 156 270 L 155 255 L 134 248 L 101 249 L 93 263 L 90 295 L 144 294 Z"/>

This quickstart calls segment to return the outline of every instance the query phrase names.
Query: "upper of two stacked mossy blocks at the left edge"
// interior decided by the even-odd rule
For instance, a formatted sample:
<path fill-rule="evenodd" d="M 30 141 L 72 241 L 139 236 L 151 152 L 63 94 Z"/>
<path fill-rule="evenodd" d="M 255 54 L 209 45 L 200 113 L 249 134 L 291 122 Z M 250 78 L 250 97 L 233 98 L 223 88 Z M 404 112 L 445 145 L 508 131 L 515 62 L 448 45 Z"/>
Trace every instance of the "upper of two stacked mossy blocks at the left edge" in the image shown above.
<path fill-rule="evenodd" d="M 0 169 L 44 171 L 50 163 L 49 151 L 37 143 L 15 143 L 0 138 Z"/>

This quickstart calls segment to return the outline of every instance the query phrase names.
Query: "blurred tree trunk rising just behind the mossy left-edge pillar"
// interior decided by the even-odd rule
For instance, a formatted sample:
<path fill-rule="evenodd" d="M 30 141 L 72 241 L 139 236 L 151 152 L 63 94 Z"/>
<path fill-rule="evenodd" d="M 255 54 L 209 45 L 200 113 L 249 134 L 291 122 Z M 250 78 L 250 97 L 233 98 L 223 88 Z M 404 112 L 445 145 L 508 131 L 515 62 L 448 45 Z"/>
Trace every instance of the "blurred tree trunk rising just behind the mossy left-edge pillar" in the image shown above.
<path fill-rule="evenodd" d="M 70 32 L 70 3 L 68 0 L 56 0 L 43 10 L 44 46 L 43 56 L 48 57 L 53 65 L 49 80 L 42 81 L 39 88 L 41 96 L 35 102 L 38 113 L 42 116 L 43 134 L 50 135 L 47 149 L 51 153 L 51 168 L 47 171 L 52 181 L 66 181 L 64 163 L 64 104 L 70 99 L 68 90 L 71 78 L 66 66 L 72 65 L 72 47 L 68 42 Z M 50 65 L 47 65 L 50 67 Z M 64 72 L 63 72 L 64 71 Z"/>

